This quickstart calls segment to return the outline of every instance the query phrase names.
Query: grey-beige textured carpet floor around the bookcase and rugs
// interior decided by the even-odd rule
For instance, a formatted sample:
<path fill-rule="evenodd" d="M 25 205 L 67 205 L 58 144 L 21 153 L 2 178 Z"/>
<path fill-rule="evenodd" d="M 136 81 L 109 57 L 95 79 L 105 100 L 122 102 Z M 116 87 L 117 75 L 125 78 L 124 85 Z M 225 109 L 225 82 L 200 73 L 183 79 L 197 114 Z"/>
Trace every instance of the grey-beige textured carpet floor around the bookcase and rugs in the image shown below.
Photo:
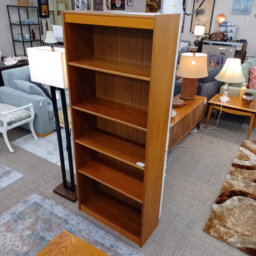
<path fill-rule="evenodd" d="M 246 127 L 242 127 L 243 123 L 244 118 L 221 114 L 218 127 L 213 130 L 241 144 L 248 131 Z M 216 121 L 211 119 L 209 127 L 215 124 Z M 25 134 L 26 130 L 18 130 L 16 133 L 16 129 L 12 129 L 10 140 Z M 199 135 L 199 132 L 188 134 L 180 145 L 209 145 L 201 140 Z M 77 203 L 73 204 L 53 194 L 52 189 L 61 183 L 59 166 L 15 145 L 15 153 L 11 154 L 1 138 L 0 163 L 23 174 L 24 177 L 0 191 L 0 213 L 38 191 L 119 237 L 146 256 L 244 256 L 240 250 L 203 231 L 212 211 L 212 204 L 221 191 L 239 145 L 210 132 L 205 132 L 202 136 L 212 140 L 215 145 L 207 149 L 179 147 L 172 151 L 172 158 L 166 169 L 162 215 L 158 227 L 143 248 L 80 212 Z M 256 140 L 254 130 L 250 139 Z"/>

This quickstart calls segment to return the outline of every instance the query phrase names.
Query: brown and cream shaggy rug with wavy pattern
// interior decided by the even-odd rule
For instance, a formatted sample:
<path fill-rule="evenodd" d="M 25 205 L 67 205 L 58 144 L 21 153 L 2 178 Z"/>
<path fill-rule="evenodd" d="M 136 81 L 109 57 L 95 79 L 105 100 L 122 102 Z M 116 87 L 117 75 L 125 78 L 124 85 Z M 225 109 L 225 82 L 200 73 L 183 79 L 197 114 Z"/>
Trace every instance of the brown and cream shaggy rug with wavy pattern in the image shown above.
<path fill-rule="evenodd" d="M 241 144 L 204 231 L 256 256 L 256 141 Z"/>

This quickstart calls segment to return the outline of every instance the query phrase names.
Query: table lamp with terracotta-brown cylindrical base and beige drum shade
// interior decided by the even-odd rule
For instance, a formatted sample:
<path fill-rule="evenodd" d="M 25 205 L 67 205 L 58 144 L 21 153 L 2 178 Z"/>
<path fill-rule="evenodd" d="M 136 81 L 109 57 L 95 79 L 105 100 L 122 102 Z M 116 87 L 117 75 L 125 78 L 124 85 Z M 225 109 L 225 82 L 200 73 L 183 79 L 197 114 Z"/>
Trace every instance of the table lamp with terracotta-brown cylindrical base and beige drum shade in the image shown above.
<path fill-rule="evenodd" d="M 198 79 L 207 77 L 207 54 L 199 52 L 182 53 L 177 76 L 183 77 L 180 98 L 195 99 Z"/>

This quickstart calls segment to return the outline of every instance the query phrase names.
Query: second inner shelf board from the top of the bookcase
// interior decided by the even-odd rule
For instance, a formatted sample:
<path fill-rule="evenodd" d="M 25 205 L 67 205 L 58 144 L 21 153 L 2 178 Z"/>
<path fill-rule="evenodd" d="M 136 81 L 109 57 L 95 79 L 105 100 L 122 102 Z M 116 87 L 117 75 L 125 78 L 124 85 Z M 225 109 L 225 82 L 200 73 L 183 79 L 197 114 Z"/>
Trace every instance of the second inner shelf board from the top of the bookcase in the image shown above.
<path fill-rule="evenodd" d="M 142 108 L 98 97 L 74 105 L 73 108 L 147 131 L 148 111 Z"/>

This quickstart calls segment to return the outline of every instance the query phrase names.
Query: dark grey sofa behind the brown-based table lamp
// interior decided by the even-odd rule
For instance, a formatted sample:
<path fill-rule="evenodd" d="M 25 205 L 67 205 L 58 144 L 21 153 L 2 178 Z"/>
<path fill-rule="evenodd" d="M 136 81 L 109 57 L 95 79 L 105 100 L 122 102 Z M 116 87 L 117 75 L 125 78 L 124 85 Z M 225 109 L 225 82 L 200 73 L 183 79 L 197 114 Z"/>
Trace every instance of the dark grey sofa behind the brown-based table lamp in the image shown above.
<path fill-rule="evenodd" d="M 198 88 L 196 94 L 205 96 L 209 100 L 215 94 L 219 93 L 219 90 L 223 82 L 215 80 L 214 77 L 217 76 L 220 71 L 221 69 L 219 68 L 216 68 L 214 70 L 208 70 L 208 76 L 200 78 L 198 80 Z M 175 82 L 174 96 L 180 93 L 181 83 L 182 79 L 179 79 Z"/>

